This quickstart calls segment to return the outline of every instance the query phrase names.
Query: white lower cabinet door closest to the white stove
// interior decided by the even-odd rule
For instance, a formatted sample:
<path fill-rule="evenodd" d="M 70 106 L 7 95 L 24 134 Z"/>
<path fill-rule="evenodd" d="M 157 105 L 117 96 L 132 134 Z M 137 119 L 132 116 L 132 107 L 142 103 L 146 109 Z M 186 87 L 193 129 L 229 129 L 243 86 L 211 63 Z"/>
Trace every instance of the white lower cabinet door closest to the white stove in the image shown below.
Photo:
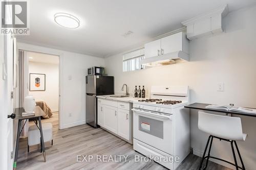
<path fill-rule="evenodd" d="M 129 110 L 123 110 L 123 109 L 118 109 L 118 135 L 130 140 L 130 124 L 129 124 L 129 119 L 130 119 L 130 111 Z"/>

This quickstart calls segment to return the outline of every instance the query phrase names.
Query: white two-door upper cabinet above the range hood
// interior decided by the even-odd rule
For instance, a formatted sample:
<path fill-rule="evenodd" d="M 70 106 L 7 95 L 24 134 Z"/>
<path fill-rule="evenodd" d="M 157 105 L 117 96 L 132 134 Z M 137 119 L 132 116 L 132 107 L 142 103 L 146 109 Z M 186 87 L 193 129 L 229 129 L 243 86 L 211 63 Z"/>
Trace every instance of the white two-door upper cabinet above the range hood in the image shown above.
<path fill-rule="evenodd" d="M 167 37 L 145 44 L 145 58 L 160 56 L 168 53 L 182 51 L 188 54 L 188 39 L 184 32 L 179 32 Z"/>

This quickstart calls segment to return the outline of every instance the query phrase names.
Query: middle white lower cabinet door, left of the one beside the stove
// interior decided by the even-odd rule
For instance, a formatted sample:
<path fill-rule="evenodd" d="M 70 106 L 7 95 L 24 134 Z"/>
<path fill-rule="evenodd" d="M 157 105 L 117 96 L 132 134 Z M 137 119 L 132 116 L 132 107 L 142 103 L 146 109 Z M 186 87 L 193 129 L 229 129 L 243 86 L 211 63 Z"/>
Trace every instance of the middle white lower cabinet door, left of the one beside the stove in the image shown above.
<path fill-rule="evenodd" d="M 117 108 L 103 105 L 104 128 L 117 133 Z"/>

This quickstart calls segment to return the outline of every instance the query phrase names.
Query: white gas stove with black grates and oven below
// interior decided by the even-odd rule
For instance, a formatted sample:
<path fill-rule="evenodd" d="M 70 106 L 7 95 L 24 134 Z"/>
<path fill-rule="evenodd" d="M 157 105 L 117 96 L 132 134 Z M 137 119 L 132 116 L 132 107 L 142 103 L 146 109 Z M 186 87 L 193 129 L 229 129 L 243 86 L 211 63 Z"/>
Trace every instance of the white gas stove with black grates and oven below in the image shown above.
<path fill-rule="evenodd" d="M 133 102 L 133 148 L 148 157 L 189 154 L 188 86 L 152 86 L 151 98 Z M 179 163 L 160 161 L 169 169 Z"/>

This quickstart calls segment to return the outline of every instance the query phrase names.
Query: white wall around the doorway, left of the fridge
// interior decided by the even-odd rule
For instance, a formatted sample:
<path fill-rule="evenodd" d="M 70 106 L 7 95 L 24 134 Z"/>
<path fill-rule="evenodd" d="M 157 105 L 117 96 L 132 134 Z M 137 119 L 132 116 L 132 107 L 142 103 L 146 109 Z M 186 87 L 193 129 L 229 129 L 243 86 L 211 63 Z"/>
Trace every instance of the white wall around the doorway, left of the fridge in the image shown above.
<path fill-rule="evenodd" d="M 86 81 L 87 68 L 104 65 L 104 59 L 70 53 L 54 48 L 21 43 L 17 48 L 27 51 L 58 55 L 60 80 L 60 129 L 86 123 Z M 69 80 L 71 78 L 71 80 Z M 71 113 L 71 117 L 70 117 Z"/>

